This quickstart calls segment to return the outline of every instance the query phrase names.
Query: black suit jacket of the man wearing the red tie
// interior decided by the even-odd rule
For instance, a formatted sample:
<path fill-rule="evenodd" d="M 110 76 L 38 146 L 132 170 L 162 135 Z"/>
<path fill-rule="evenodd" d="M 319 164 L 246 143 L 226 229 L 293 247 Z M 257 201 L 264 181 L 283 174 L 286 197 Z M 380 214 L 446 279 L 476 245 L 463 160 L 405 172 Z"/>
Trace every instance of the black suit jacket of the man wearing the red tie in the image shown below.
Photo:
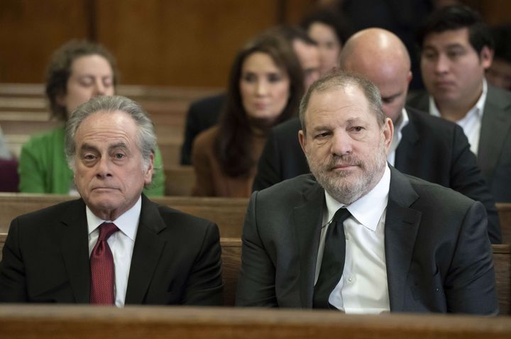
<path fill-rule="evenodd" d="M 221 249 L 214 223 L 142 198 L 126 304 L 221 305 Z M 0 264 L 1 302 L 90 300 L 82 199 L 18 216 Z"/>

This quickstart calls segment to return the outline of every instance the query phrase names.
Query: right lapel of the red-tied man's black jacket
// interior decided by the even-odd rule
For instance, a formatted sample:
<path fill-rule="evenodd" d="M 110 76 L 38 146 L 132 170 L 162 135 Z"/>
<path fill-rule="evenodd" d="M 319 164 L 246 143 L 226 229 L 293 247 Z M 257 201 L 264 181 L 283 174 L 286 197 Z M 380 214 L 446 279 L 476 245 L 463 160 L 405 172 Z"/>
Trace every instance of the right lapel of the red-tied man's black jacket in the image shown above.
<path fill-rule="evenodd" d="M 166 228 L 156 204 L 142 195 L 142 209 L 131 257 L 125 304 L 143 304 L 153 272 L 165 247 L 158 233 Z"/>

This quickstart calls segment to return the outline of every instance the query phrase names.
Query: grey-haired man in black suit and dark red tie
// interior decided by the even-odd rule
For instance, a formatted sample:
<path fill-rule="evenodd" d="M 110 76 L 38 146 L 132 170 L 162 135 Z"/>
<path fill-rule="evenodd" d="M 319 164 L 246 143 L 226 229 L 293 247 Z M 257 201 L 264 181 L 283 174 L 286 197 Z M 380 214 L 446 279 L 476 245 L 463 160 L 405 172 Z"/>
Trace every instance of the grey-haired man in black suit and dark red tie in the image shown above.
<path fill-rule="evenodd" d="M 80 105 L 65 151 L 81 199 L 12 221 L 0 302 L 221 305 L 216 225 L 142 193 L 155 147 L 153 123 L 134 101 Z"/>

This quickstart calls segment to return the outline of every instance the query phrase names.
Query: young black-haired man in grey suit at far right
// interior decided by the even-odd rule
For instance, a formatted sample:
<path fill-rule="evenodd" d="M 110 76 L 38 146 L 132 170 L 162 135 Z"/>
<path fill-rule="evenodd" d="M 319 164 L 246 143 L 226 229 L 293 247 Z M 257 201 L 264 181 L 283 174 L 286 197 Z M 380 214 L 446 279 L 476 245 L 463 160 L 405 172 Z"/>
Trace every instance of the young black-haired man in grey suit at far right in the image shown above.
<path fill-rule="evenodd" d="M 461 126 L 495 201 L 511 202 L 511 93 L 485 80 L 488 26 L 466 6 L 447 6 L 428 18 L 418 44 L 427 92 L 408 104 Z"/>

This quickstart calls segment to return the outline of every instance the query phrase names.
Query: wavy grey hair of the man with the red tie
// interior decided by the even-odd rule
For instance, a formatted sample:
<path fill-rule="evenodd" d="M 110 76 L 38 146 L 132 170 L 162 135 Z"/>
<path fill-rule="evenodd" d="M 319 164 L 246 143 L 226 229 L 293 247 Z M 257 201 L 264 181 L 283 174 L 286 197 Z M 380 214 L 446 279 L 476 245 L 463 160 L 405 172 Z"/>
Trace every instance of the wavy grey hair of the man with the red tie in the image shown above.
<path fill-rule="evenodd" d="M 84 104 L 81 104 L 71 114 L 66 123 L 65 133 L 65 154 L 67 163 L 73 169 L 75 168 L 75 138 L 80 124 L 94 113 L 114 113 L 123 111 L 127 113 L 138 127 L 136 143 L 142 152 L 144 169 L 147 170 L 150 164 L 150 155 L 155 153 L 156 135 L 154 124 L 148 113 L 135 101 L 124 96 L 97 96 Z M 154 175 L 154 172 L 153 172 Z"/>

